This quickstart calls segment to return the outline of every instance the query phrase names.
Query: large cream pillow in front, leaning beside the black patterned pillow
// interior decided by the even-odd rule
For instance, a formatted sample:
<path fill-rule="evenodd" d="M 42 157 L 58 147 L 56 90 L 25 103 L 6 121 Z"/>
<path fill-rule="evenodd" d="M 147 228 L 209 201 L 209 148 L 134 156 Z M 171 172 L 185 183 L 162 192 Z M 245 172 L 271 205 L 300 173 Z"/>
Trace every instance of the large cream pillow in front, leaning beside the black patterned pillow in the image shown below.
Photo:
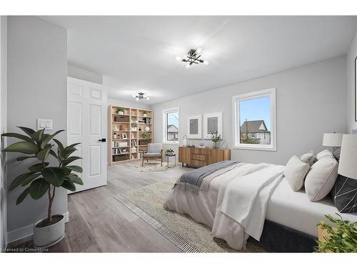
<path fill-rule="evenodd" d="M 338 162 L 333 157 L 323 157 L 313 164 L 306 175 L 305 190 L 310 201 L 325 198 L 337 179 Z"/>

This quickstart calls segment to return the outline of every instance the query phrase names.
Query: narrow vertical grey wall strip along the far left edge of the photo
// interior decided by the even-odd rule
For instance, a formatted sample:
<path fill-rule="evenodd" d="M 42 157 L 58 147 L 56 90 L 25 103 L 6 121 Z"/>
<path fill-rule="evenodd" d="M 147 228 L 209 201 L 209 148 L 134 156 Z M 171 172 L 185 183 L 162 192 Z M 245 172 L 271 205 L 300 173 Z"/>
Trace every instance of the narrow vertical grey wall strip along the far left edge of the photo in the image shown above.
<path fill-rule="evenodd" d="M 6 132 L 7 96 L 7 17 L 0 16 L 0 133 Z M 6 138 L 0 139 L 0 149 L 6 147 Z M 6 248 L 6 155 L 1 154 L 0 162 L 0 252 Z"/>

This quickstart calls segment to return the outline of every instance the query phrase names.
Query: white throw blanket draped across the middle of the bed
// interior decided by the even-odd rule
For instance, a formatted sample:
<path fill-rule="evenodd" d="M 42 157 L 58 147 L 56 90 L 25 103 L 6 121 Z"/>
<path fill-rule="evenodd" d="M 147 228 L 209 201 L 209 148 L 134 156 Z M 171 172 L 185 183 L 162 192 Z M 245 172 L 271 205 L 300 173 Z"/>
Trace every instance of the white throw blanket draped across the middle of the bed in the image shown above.
<path fill-rule="evenodd" d="M 283 166 L 246 165 L 228 172 L 232 179 L 218 191 L 217 210 L 241 224 L 246 234 L 259 240 L 268 198 L 283 178 Z M 215 218 L 214 225 L 220 220 Z"/>

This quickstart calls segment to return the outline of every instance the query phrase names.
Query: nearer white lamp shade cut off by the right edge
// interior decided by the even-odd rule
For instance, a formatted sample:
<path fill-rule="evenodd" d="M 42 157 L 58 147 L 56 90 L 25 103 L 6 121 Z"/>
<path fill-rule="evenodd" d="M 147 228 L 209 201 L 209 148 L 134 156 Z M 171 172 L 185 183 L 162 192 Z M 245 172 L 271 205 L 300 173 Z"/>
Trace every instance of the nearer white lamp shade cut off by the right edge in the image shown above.
<path fill-rule="evenodd" d="M 338 174 L 357 179 L 357 135 L 343 134 Z"/>

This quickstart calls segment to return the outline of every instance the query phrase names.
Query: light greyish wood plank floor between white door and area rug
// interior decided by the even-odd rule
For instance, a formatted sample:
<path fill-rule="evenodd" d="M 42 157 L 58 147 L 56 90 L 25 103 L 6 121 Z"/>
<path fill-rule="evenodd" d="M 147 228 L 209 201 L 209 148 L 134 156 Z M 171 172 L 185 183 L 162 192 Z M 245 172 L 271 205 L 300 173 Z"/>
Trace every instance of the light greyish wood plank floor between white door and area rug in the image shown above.
<path fill-rule="evenodd" d="M 175 180 L 189 169 L 178 164 L 164 172 L 136 172 L 129 165 L 108 167 L 105 187 L 69 195 L 66 237 L 50 252 L 181 252 L 116 196 L 155 182 Z M 9 247 L 31 248 L 33 244 L 27 239 Z"/>

